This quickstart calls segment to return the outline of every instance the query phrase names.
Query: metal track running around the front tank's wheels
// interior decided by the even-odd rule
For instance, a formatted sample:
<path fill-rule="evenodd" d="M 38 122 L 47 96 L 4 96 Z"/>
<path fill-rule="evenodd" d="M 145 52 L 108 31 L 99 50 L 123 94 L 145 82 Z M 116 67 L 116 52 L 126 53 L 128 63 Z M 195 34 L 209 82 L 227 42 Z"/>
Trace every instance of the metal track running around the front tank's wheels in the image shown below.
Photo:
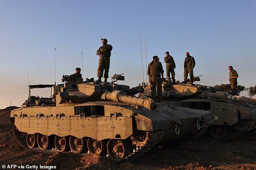
<path fill-rule="evenodd" d="M 27 142 L 26 142 L 27 133 L 21 133 L 15 125 L 13 125 L 13 134 L 15 136 L 15 139 L 21 144 L 21 146 L 25 150 L 40 152 L 40 153 L 44 153 L 44 154 L 52 154 L 52 155 L 58 153 L 58 151 L 56 151 L 56 150 L 41 150 L 39 147 L 38 148 L 29 148 L 27 146 Z M 129 154 L 128 156 L 126 156 L 126 158 L 124 158 L 120 161 L 131 161 L 131 160 L 134 160 L 134 159 L 138 158 L 139 156 L 145 154 L 146 152 L 151 150 L 157 143 L 159 143 L 159 141 L 161 139 L 161 135 L 162 135 L 161 131 L 147 131 L 147 136 L 143 143 L 143 146 L 140 148 L 137 148 L 136 151 L 133 150 L 133 152 L 131 154 Z M 65 152 L 65 153 L 73 154 L 73 152 Z M 76 154 L 76 155 L 86 156 L 86 155 L 88 155 L 88 153 Z"/>

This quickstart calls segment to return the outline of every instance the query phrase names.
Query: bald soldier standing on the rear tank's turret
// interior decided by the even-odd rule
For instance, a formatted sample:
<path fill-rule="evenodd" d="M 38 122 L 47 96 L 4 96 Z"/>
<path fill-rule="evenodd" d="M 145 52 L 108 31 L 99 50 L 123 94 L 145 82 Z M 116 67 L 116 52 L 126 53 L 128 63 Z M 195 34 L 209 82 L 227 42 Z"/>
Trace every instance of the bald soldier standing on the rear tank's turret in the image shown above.
<path fill-rule="evenodd" d="M 187 76 L 189 73 L 189 76 L 191 79 L 190 83 L 193 84 L 194 82 L 193 69 L 195 67 L 195 59 L 194 57 L 189 55 L 189 52 L 186 53 L 186 56 L 187 57 L 185 58 L 185 61 L 184 61 L 184 82 L 182 83 L 187 84 Z"/>

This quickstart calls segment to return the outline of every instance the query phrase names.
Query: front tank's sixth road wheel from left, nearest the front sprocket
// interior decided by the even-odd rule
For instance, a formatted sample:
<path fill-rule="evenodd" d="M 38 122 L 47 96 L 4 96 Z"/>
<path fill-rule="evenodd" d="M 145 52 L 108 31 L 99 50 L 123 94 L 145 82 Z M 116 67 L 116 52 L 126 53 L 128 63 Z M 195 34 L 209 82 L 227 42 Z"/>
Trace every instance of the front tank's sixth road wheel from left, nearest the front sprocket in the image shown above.
<path fill-rule="evenodd" d="M 119 139 L 110 139 L 107 143 L 107 154 L 114 161 L 120 161 L 128 153 L 126 141 Z"/>

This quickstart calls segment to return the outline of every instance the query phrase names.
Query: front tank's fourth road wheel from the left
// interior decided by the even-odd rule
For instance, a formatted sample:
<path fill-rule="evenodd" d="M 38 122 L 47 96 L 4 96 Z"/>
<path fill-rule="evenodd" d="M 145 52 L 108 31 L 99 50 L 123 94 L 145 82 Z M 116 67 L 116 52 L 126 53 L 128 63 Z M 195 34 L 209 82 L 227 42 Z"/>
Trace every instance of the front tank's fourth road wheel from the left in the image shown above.
<path fill-rule="evenodd" d="M 86 140 L 84 138 L 69 137 L 69 146 L 75 154 L 82 154 L 86 150 Z"/>

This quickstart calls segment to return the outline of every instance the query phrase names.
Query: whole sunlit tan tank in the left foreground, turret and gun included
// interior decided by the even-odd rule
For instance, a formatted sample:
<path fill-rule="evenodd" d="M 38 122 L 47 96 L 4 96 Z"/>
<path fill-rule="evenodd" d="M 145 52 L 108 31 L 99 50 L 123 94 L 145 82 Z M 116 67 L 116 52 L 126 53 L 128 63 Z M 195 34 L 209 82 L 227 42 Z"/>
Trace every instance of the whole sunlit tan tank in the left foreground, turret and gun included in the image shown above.
<path fill-rule="evenodd" d="M 124 80 L 120 74 L 112 79 L 110 83 L 68 82 L 63 75 L 63 84 L 57 86 L 30 85 L 23 108 L 10 114 L 16 139 L 27 150 L 89 152 L 114 161 L 133 160 L 157 143 L 201 135 L 214 119 L 210 111 L 136 97 L 144 90 L 141 86 L 114 83 Z M 31 88 L 48 87 L 50 98 L 31 100 Z"/>

